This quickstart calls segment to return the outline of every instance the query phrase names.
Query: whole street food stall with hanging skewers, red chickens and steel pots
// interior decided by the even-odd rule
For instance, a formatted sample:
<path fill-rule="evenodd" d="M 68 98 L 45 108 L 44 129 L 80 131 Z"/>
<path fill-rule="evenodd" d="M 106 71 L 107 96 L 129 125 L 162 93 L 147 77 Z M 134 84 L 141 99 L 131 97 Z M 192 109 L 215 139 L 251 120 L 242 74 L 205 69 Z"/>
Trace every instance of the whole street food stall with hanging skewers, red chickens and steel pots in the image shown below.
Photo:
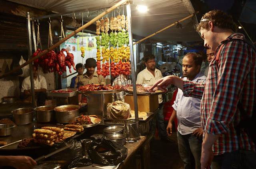
<path fill-rule="evenodd" d="M 133 47 L 131 47 L 134 45 L 134 43 L 132 41 L 133 37 L 130 3 L 131 2 L 128 2 L 128 0 L 122 0 L 120 2 L 117 2 L 111 8 L 105 9 L 105 11 L 101 14 L 99 14 L 98 12 L 98 16 L 96 16 L 90 22 L 87 22 L 82 27 L 76 29 L 74 32 L 70 33 L 66 37 L 61 38 L 58 43 L 56 43 L 55 45 L 50 45 L 50 47 L 48 47 L 48 49 L 44 51 L 40 51 L 40 49 L 36 48 L 37 45 L 35 43 L 36 34 L 34 29 L 34 21 L 38 19 L 40 20 L 42 18 L 49 18 L 50 20 L 50 17 L 62 15 L 64 16 L 66 14 L 54 14 L 50 16 L 30 18 L 30 14 L 28 13 L 27 20 L 30 59 L 16 69 L 21 69 L 22 67 L 30 64 L 30 70 L 32 75 L 31 64 L 33 61 L 35 63 L 37 59 L 40 60 L 40 58 L 44 58 L 44 60 L 41 60 L 41 63 L 44 63 L 43 71 L 47 72 L 50 70 L 54 71 L 55 73 L 62 74 L 66 71 L 66 66 L 71 69 L 71 66 L 74 67 L 74 56 L 72 56 L 72 53 L 69 53 L 65 49 L 61 49 L 58 53 L 55 53 L 53 49 L 61 45 L 64 41 L 66 41 L 76 33 L 83 31 L 85 28 L 96 22 L 96 34 L 98 35 L 96 37 L 96 58 L 98 75 L 101 74 L 104 77 L 112 75 L 116 77 L 120 75 L 120 73 L 126 74 L 128 69 L 127 65 L 131 63 L 132 81 L 135 82 L 135 59 L 133 56 Z M 116 14 L 114 14 L 113 17 L 112 13 L 112 17 L 110 18 L 110 20 L 108 19 L 108 17 L 106 17 L 105 19 L 103 18 L 105 15 L 121 5 L 123 5 L 123 14 L 120 15 L 118 13 L 117 16 Z M 124 16 L 124 8 L 126 8 L 126 17 Z M 188 18 L 192 16 L 194 16 L 194 14 L 190 15 Z M 62 22 L 63 20 L 61 21 L 61 23 Z M 111 29 L 112 32 L 108 35 L 109 29 Z M 165 29 L 167 29 L 167 27 Z M 154 34 L 157 33 L 158 32 Z M 34 39 L 34 53 L 32 53 L 32 36 Z M 149 37 L 151 36 L 152 35 L 150 35 Z M 138 41 L 137 43 L 139 42 L 140 41 Z M 111 46 L 109 46 L 109 44 L 111 44 Z M 66 53 L 66 55 L 64 53 Z M 83 49 L 81 49 L 81 55 L 84 55 Z M 53 58 L 55 58 L 55 60 Z M 48 61 L 46 62 L 46 60 Z M 38 63 L 38 65 L 40 66 L 40 63 Z M 7 75 L 8 73 L 6 73 L 4 76 Z M 31 86 L 34 86 L 33 80 L 31 80 Z M 85 139 L 90 139 L 90 145 L 98 143 L 95 140 L 99 141 L 99 139 L 102 139 L 102 142 L 108 140 L 104 142 L 105 144 L 106 142 L 109 143 L 109 140 L 113 141 L 114 143 L 119 142 L 118 145 L 122 144 L 124 145 L 123 147 L 125 147 L 121 147 L 120 149 L 126 150 L 126 153 L 122 153 L 122 156 L 124 158 L 122 159 L 123 162 L 120 161 L 120 163 L 122 162 L 121 164 L 106 164 L 114 164 L 114 166 L 116 166 L 114 168 L 129 168 L 131 165 L 130 161 L 133 161 L 136 155 L 140 155 L 141 167 L 149 168 L 150 164 L 147 163 L 147 161 L 149 161 L 149 141 L 152 138 L 152 134 L 149 134 L 149 128 L 150 122 L 154 114 L 158 112 L 158 102 L 155 102 L 154 100 L 157 100 L 156 98 L 158 94 L 163 94 L 164 92 L 149 91 L 144 89 L 141 90 L 142 87 L 139 87 L 140 90 L 138 90 L 138 87 L 135 83 L 133 83 L 131 86 L 126 86 L 126 88 L 122 88 L 120 86 L 116 86 L 117 88 L 114 87 L 110 87 L 109 85 L 94 85 L 89 87 L 90 90 L 86 89 L 85 86 L 82 86 L 78 90 L 65 88 L 47 92 L 48 96 L 57 98 L 73 98 L 78 94 L 86 94 L 88 106 L 87 112 L 79 111 L 80 107 L 71 104 L 69 101 L 66 103 L 66 105 L 58 105 L 57 107 L 43 106 L 37 107 L 35 109 L 31 108 L 32 110 L 15 110 L 12 113 L 13 115 L 15 114 L 17 116 L 25 116 L 29 114 L 29 116 L 32 116 L 32 118 L 29 122 L 26 122 L 26 124 L 20 125 L 16 125 L 18 121 L 14 119 L 14 122 L 16 124 L 10 124 L 10 126 L 7 125 L 3 127 L 10 131 L 2 132 L 3 136 L 5 137 L 1 138 L 0 141 L 3 141 L 6 145 L 0 147 L 1 153 L 3 155 L 28 155 L 30 157 L 33 157 L 38 162 L 38 164 L 44 163 L 46 161 L 55 161 L 56 163 L 61 163 L 62 167 L 65 168 L 68 167 L 68 165 L 72 163 L 72 161 L 81 159 L 73 159 L 70 156 L 65 157 L 64 154 L 73 152 L 76 147 L 79 147 L 78 145 L 81 145 L 82 147 L 82 145 L 84 145 L 83 140 Z M 93 88 L 93 90 L 91 88 Z M 123 110 L 123 108 L 126 106 L 124 106 L 124 103 L 114 103 L 114 105 L 110 105 L 112 103 L 112 94 L 123 90 L 128 93 L 125 100 L 126 102 L 129 102 L 128 105 L 130 106 L 128 109 L 126 108 L 126 111 L 123 111 L 125 115 L 122 114 L 122 118 L 113 118 L 116 117 L 116 112 L 120 112 L 121 109 Z M 33 88 L 32 96 L 32 103 L 34 104 L 35 94 Z M 144 106 L 142 106 L 142 103 L 145 103 L 143 104 Z M 112 107 L 108 109 L 108 106 Z M 32 107 L 35 107 L 35 105 L 33 105 Z M 46 116 L 46 114 L 48 115 Z M 124 116 L 126 118 L 124 118 Z M 108 128 L 109 126 L 115 126 L 116 128 L 121 127 L 124 129 L 121 130 L 121 133 L 116 133 L 120 132 L 116 130 L 112 131 L 111 135 L 108 136 L 108 139 L 105 139 L 106 128 Z M 95 136 L 95 134 L 97 136 Z M 100 145 L 105 145 L 104 143 Z M 86 151 L 88 151 L 88 153 L 92 155 L 92 146 L 88 147 L 90 145 L 89 143 L 87 144 L 87 142 L 85 143 Z M 116 144 L 114 144 L 113 146 L 116 146 Z M 82 152 L 83 149 L 81 149 L 81 147 L 79 151 Z M 97 152 L 99 153 L 101 151 L 98 150 Z M 91 162 L 94 163 L 95 159 L 96 158 L 92 158 Z M 114 159 L 112 159 L 112 161 L 113 160 Z M 96 161 L 96 163 L 97 162 L 98 161 Z"/>

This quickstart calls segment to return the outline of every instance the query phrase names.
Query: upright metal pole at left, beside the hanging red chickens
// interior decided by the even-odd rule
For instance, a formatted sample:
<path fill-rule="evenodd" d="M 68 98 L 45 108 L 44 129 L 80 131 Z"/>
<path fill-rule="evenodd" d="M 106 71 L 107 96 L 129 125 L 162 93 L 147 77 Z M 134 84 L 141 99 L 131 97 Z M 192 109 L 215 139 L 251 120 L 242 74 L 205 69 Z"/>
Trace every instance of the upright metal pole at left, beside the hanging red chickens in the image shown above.
<path fill-rule="evenodd" d="M 29 12 L 27 13 L 27 21 L 28 21 L 28 24 L 27 24 L 27 26 L 28 26 L 28 55 L 29 55 L 29 59 L 32 59 L 32 39 L 31 39 L 31 26 L 30 26 Z M 30 68 L 30 81 L 31 81 L 31 91 L 32 91 L 32 104 L 33 104 L 33 107 L 36 107 L 32 62 L 29 64 L 29 68 Z"/>

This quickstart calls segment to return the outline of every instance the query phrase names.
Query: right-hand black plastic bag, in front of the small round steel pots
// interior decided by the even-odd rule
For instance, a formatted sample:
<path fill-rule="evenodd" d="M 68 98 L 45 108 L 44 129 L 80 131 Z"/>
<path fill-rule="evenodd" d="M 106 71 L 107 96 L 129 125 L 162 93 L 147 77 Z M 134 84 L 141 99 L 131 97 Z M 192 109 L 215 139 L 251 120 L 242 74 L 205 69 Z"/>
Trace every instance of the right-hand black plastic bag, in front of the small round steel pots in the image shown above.
<path fill-rule="evenodd" d="M 100 165 L 117 165 L 127 156 L 127 148 L 114 141 L 98 138 L 90 144 L 92 162 Z"/>

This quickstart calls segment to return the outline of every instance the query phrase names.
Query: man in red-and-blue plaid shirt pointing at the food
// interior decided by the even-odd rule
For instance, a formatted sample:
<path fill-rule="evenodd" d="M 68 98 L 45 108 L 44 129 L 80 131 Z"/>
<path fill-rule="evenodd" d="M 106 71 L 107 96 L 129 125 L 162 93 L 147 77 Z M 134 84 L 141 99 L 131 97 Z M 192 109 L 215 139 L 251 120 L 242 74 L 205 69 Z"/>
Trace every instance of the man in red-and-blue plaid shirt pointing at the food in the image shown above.
<path fill-rule="evenodd" d="M 244 129 L 237 134 L 235 127 L 243 118 L 238 102 L 248 117 L 256 113 L 256 51 L 242 33 L 235 33 L 231 16 L 220 10 L 206 13 L 197 31 L 204 46 L 215 51 L 206 83 L 168 76 L 152 88 L 165 90 L 174 84 L 183 90 L 184 96 L 202 97 L 202 169 L 211 164 L 213 169 L 255 169 L 256 145 Z"/>

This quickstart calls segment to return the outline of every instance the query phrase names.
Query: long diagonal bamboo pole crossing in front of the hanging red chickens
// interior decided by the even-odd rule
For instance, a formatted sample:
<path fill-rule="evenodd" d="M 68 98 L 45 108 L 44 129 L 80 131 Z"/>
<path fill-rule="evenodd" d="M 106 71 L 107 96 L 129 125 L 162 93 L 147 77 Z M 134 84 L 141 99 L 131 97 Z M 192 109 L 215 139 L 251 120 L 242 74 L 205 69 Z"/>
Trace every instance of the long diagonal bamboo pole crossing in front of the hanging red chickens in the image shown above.
<path fill-rule="evenodd" d="M 111 12 L 112 10 L 114 10 L 115 8 L 117 8 L 118 6 L 124 4 L 125 2 L 127 2 L 128 0 L 121 0 L 118 3 L 116 3 L 115 5 L 113 5 L 111 8 L 108 8 L 107 10 L 105 10 L 104 12 L 102 12 L 100 15 L 96 16 L 95 18 L 93 18 L 92 20 L 90 20 L 89 22 L 87 22 L 86 24 L 84 24 L 83 26 L 81 26 L 80 28 L 74 30 L 70 35 L 66 36 L 65 38 L 61 39 L 60 41 L 58 41 L 57 43 L 55 43 L 52 47 L 49 47 L 48 49 L 46 49 L 44 52 L 40 53 L 39 55 L 37 55 L 36 57 L 33 57 L 32 59 L 26 61 L 25 63 L 23 63 L 22 65 L 20 65 L 19 67 L 16 67 L 15 69 L 13 69 L 10 72 L 5 73 L 4 75 L 0 76 L 0 79 L 2 79 L 3 77 L 6 77 L 7 75 L 10 75 L 16 71 L 18 71 L 19 69 L 21 69 L 22 67 L 32 63 L 34 60 L 42 57 L 43 55 L 45 55 L 47 52 L 51 51 L 52 49 L 54 49 L 55 47 L 58 47 L 61 43 L 63 43 L 64 41 L 68 40 L 70 37 L 72 37 L 73 35 L 75 35 L 76 33 L 82 31 L 83 29 L 87 28 L 88 26 L 90 26 L 91 24 L 93 24 L 94 22 L 96 22 L 96 20 L 102 18 L 104 15 L 108 14 L 109 12 Z"/>

